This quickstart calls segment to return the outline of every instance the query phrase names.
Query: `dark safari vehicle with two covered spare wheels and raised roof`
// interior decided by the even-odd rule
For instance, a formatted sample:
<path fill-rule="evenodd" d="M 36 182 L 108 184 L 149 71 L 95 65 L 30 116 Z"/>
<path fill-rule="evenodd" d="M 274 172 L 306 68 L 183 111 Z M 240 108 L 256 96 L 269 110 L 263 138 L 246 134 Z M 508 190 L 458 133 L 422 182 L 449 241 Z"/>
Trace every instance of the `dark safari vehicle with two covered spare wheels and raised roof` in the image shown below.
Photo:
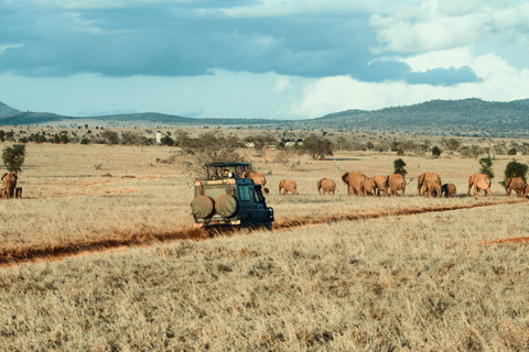
<path fill-rule="evenodd" d="M 273 209 L 267 207 L 261 186 L 241 178 L 248 163 L 205 164 L 207 176 L 194 183 L 191 210 L 196 228 L 260 227 L 272 229 Z"/>

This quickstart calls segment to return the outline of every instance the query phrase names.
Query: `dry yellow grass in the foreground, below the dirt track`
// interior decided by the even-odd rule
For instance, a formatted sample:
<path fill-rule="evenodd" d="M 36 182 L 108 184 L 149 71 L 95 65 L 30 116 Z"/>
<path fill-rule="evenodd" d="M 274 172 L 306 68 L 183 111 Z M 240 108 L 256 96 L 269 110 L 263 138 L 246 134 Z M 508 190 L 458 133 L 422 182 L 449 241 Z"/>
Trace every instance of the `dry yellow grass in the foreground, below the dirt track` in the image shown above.
<path fill-rule="evenodd" d="M 0 345 L 526 350 L 527 248 L 479 244 L 527 233 L 512 221 L 526 207 L 505 207 L 510 220 L 471 209 L 6 268 Z"/>

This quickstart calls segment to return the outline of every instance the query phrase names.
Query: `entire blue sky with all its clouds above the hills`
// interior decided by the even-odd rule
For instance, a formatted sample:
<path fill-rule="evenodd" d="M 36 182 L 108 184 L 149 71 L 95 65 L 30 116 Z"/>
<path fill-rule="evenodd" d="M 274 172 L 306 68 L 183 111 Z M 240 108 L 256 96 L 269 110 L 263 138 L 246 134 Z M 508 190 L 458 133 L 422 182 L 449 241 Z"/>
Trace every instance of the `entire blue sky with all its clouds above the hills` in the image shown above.
<path fill-rule="evenodd" d="M 0 101 L 306 119 L 529 97 L 529 2 L 0 0 Z"/>

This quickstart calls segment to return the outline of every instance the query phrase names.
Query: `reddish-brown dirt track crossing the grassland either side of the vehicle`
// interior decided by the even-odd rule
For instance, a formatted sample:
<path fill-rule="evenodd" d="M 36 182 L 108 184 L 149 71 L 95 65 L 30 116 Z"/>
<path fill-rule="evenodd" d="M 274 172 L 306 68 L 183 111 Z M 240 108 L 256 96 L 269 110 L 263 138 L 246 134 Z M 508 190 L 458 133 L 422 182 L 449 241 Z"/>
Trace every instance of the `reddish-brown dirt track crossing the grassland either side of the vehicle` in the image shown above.
<path fill-rule="evenodd" d="M 380 210 L 377 212 L 350 213 L 335 217 L 323 218 L 305 218 L 291 221 L 274 223 L 273 231 L 287 231 L 304 226 L 323 224 L 335 221 L 356 221 L 365 219 L 378 219 L 395 216 L 414 216 L 429 212 L 443 212 L 465 210 L 473 208 L 492 207 L 499 205 L 511 205 L 523 202 L 526 199 L 510 199 L 504 201 L 482 201 L 473 205 L 461 206 L 438 206 L 438 207 L 422 207 L 422 208 L 404 208 L 396 210 Z M 227 231 L 233 232 L 233 230 Z M 206 240 L 215 237 L 214 233 L 208 233 L 201 229 L 182 229 L 181 231 L 164 232 L 164 233 L 147 233 L 142 237 L 132 240 L 109 240 L 91 243 L 79 243 L 69 246 L 51 246 L 45 249 L 29 249 L 25 251 L 4 252 L 0 255 L 0 267 L 9 267 L 20 265 L 22 263 L 40 263 L 40 262 L 55 262 L 66 257 L 87 256 L 96 253 L 123 251 L 132 246 L 149 246 L 155 243 L 163 243 L 176 240 Z M 529 238 L 503 239 L 496 241 L 482 242 L 483 244 L 498 244 L 498 243 L 525 243 L 529 242 Z"/>

